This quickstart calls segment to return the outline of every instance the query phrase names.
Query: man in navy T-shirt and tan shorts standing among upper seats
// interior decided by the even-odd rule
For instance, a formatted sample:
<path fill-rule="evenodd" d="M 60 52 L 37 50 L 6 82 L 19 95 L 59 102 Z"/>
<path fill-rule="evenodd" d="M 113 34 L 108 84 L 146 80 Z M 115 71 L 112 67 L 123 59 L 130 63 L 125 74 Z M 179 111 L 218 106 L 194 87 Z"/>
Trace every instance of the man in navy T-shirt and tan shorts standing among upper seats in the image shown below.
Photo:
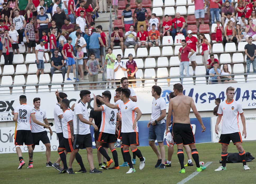
<path fill-rule="evenodd" d="M 135 13 L 136 13 L 136 16 L 135 16 Z M 138 3 L 137 8 L 133 12 L 133 17 L 137 22 L 137 31 L 140 30 L 141 25 L 143 25 L 144 31 L 147 31 L 146 19 L 148 19 L 148 13 L 147 13 L 147 17 L 145 16 L 145 13 L 147 13 L 147 9 L 142 8 L 141 3 Z"/>

